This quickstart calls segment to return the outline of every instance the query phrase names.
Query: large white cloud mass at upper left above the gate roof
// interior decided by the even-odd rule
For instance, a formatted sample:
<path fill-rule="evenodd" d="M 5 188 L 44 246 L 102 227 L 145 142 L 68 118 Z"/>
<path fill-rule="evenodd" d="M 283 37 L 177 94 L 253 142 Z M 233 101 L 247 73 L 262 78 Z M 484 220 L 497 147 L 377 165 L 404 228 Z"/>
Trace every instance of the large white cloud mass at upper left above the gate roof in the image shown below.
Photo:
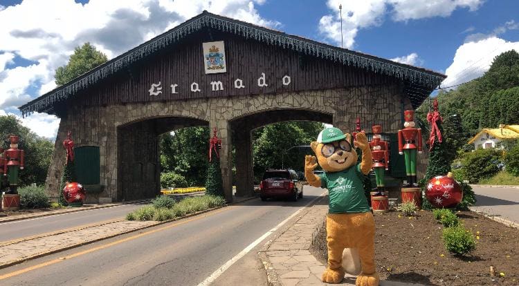
<path fill-rule="evenodd" d="M 55 69 L 66 64 L 74 48 L 86 41 L 112 58 L 203 10 L 261 26 L 280 26 L 256 10 L 255 5 L 264 2 L 90 0 L 81 4 L 74 0 L 25 0 L 16 6 L 0 6 L 0 111 L 34 99 L 37 94 L 33 90 L 41 95 L 55 88 Z M 35 64 L 5 69 L 16 56 Z M 42 124 L 55 132 L 55 128 L 47 128 L 54 122 L 47 117 L 24 122 L 34 131 L 42 129 L 38 126 Z"/>

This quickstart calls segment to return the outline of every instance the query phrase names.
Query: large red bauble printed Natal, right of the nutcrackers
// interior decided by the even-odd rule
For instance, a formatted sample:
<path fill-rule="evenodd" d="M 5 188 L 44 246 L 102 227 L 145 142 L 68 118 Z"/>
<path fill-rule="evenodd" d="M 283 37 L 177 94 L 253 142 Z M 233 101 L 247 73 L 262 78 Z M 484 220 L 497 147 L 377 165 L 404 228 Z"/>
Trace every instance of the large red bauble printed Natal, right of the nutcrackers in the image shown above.
<path fill-rule="evenodd" d="M 463 191 L 454 178 L 440 175 L 429 180 L 426 198 L 434 207 L 453 208 L 462 201 Z"/>

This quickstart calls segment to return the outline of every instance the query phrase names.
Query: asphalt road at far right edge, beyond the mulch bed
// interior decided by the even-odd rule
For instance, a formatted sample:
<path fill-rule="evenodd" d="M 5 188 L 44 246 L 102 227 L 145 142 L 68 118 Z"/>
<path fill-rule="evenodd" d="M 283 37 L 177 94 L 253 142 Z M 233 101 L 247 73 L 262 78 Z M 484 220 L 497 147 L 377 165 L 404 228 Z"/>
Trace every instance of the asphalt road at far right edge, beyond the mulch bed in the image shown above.
<path fill-rule="evenodd" d="M 519 189 L 473 186 L 477 202 L 471 209 L 500 216 L 519 225 Z"/>

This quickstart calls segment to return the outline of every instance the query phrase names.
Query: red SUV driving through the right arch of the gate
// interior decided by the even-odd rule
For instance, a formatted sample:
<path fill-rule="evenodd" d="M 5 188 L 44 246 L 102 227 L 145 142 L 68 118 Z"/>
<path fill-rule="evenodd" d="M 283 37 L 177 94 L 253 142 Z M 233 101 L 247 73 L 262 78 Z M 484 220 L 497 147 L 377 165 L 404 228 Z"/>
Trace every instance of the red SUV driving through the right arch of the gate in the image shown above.
<path fill-rule="evenodd" d="M 291 169 L 267 170 L 260 183 L 260 198 L 290 198 L 294 202 L 302 198 L 302 187 L 298 189 L 298 174 Z"/>

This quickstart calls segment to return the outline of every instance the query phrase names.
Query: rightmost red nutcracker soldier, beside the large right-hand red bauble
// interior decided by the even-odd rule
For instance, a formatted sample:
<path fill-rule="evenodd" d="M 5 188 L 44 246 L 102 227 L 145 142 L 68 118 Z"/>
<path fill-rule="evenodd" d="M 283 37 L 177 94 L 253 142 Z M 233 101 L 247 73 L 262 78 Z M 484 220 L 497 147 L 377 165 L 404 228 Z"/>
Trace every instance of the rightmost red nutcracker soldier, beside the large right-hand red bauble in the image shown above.
<path fill-rule="evenodd" d="M 421 153 L 421 129 L 415 128 L 415 111 L 404 111 L 406 122 L 399 130 L 399 154 L 406 159 L 408 183 L 403 187 L 418 187 L 417 184 L 417 149 Z"/>

